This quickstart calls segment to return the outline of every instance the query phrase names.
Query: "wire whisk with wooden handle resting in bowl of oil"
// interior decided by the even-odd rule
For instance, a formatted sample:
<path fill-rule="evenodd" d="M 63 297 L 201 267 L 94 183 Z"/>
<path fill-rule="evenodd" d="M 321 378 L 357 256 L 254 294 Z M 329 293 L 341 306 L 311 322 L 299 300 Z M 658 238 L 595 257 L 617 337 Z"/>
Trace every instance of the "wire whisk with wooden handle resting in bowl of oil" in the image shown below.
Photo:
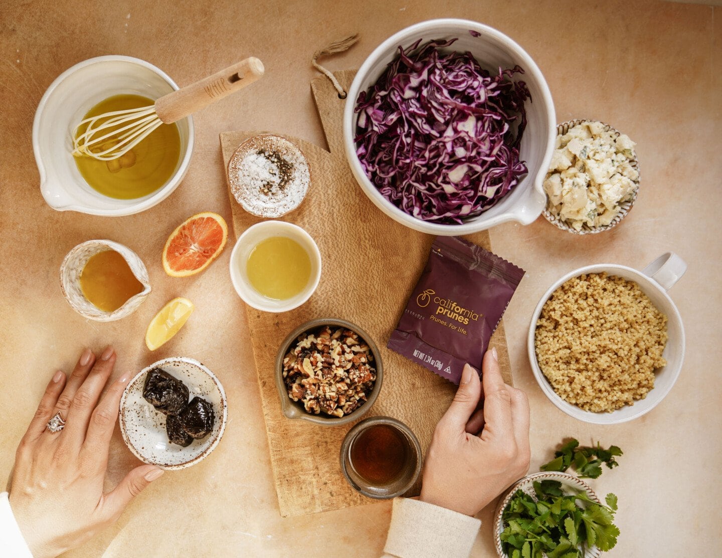
<path fill-rule="evenodd" d="M 245 60 L 177 91 L 163 95 L 149 107 L 114 110 L 79 123 L 73 131 L 73 154 L 103 161 L 118 159 L 161 124 L 185 118 L 196 110 L 242 90 L 264 74 L 258 58 Z M 82 128 L 87 124 L 87 128 Z M 83 129 L 82 134 L 78 131 Z"/>

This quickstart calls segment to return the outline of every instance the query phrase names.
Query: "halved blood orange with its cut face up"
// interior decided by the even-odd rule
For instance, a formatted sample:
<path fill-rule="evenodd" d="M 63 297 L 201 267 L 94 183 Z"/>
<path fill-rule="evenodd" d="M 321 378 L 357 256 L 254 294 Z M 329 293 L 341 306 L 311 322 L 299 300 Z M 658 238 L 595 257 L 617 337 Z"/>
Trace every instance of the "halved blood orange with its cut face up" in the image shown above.
<path fill-rule="evenodd" d="M 188 217 L 170 233 L 163 248 L 163 269 L 173 277 L 187 277 L 203 271 L 223 251 L 228 227 L 217 213 Z"/>

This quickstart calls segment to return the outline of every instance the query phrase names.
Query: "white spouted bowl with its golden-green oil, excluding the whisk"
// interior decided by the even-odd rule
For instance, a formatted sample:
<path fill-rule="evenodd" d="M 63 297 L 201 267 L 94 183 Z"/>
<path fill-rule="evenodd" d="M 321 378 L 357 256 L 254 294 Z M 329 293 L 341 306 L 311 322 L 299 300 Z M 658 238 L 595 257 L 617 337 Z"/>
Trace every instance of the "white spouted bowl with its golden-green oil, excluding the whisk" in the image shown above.
<path fill-rule="evenodd" d="M 74 157 L 73 131 L 90 111 L 152 105 L 178 86 L 139 58 L 100 56 L 64 71 L 35 112 L 32 148 L 40 191 L 58 211 L 130 215 L 160 203 L 181 183 L 193 151 L 190 116 L 164 125 L 121 160 Z"/>

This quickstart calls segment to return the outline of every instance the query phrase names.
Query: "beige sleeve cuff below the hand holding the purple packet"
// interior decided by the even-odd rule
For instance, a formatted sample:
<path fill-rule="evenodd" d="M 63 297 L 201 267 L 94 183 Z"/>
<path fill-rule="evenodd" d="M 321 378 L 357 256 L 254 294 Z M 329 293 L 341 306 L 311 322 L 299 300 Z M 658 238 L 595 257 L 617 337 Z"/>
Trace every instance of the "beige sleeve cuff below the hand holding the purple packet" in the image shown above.
<path fill-rule="evenodd" d="M 481 520 L 418 500 L 393 500 L 383 558 L 467 558 Z"/>

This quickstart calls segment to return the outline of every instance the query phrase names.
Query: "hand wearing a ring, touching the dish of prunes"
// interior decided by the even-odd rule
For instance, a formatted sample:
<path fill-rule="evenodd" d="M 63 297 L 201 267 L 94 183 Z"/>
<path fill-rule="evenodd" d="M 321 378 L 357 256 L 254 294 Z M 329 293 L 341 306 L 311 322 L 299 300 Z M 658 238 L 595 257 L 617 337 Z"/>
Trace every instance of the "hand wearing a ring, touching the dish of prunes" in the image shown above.
<path fill-rule="evenodd" d="M 110 437 L 130 378 L 124 374 L 113 382 L 98 403 L 115 363 L 109 346 L 97 361 L 85 349 L 69 378 L 58 370 L 17 448 L 10 507 L 36 558 L 55 557 L 84 543 L 163 474 L 142 465 L 103 494 Z M 46 424 L 58 411 L 66 425 L 51 432 Z"/>

